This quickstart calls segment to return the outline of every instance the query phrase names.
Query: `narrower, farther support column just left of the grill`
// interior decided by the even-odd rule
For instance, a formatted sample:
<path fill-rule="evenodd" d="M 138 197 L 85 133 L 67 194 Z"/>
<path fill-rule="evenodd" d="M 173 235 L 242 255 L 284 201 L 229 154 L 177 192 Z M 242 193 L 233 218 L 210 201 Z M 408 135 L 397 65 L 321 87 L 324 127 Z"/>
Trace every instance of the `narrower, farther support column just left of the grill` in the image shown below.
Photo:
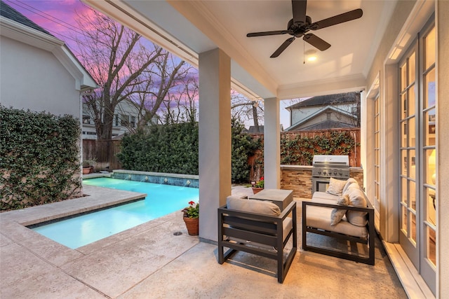
<path fill-rule="evenodd" d="M 265 188 L 281 188 L 281 120 L 279 100 L 264 99 L 264 182 Z"/>

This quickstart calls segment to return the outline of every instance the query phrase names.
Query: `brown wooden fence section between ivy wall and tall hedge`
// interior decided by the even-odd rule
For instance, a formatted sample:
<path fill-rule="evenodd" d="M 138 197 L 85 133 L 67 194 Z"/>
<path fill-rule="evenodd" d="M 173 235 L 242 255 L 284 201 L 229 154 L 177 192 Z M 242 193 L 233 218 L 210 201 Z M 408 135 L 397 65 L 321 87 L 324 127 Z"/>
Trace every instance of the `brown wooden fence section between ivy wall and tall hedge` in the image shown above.
<path fill-rule="evenodd" d="M 119 151 L 120 140 L 83 139 L 83 161 L 95 160 L 95 171 L 121 169 Z"/>

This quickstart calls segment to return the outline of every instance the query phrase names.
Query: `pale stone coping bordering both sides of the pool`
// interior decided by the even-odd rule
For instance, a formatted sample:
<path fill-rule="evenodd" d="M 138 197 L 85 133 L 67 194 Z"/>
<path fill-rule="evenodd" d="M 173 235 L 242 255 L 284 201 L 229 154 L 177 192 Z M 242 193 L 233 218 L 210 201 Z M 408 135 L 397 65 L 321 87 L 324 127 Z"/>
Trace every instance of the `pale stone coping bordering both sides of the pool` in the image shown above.
<path fill-rule="evenodd" d="M 53 202 L 51 204 L 42 204 L 40 206 L 28 207 L 14 211 L 6 211 L 0 214 L 1 237 L 0 246 L 6 242 L 15 242 L 18 244 L 32 244 L 33 251 L 53 260 L 55 265 L 62 265 L 72 259 L 92 253 L 99 249 L 111 246 L 127 237 L 138 234 L 141 231 L 161 225 L 172 218 L 177 212 L 168 214 L 161 218 L 142 223 L 123 232 L 118 232 L 109 237 L 99 239 L 98 241 L 86 244 L 76 249 L 62 245 L 53 239 L 45 237 L 39 232 L 30 228 L 29 225 L 36 223 L 52 221 L 58 218 L 65 218 L 75 214 L 81 214 L 88 211 L 95 211 L 116 204 L 122 204 L 134 200 L 139 200 L 147 196 L 146 193 L 137 193 L 132 191 L 116 190 L 112 188 L 103 188 L 98 186 L 83 185 L 85 196 L 77 197 L 72 200 L 62 202 Z M 6 237 L 6 238 L 4 238 Z M 29 246 L 29 245 L 25 245 Z"/>

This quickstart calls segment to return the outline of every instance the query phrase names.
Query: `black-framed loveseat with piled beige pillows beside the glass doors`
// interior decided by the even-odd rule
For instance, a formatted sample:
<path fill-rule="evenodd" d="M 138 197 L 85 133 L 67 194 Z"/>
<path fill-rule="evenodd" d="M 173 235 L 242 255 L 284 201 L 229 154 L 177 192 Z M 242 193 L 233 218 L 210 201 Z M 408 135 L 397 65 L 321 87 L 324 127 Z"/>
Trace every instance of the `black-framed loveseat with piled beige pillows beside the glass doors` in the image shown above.
<path fill-rule="evenodd" d="M 326 193 L 315 192 L 310 202 L 302 202 L 302 249 L 374 265 L 374 208 L 354 179 L 340 182 L 340 185 L 340 190 L 333 193 L 330 192 L 334 189 L 331 182 Z M 344 252 L 332 246 L 310 244 L 308 240 L 314 234 L 365 244 L 368 246 L 368 256 Z"/>

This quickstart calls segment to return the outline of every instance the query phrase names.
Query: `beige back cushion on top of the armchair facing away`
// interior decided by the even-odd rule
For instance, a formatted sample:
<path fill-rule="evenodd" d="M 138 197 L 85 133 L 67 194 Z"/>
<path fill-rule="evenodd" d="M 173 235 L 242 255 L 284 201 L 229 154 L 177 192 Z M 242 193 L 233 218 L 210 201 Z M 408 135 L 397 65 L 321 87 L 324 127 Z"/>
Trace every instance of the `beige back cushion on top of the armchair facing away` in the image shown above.
<path fill-rule="evenodd" d="M 250 213 L 264 214 L 267 216 L 281 215 L 281 209 L 273 202 L 267 200 L 244 200 L 235 196 L 226 199 L 228 209 L 248 211 Z"/>

